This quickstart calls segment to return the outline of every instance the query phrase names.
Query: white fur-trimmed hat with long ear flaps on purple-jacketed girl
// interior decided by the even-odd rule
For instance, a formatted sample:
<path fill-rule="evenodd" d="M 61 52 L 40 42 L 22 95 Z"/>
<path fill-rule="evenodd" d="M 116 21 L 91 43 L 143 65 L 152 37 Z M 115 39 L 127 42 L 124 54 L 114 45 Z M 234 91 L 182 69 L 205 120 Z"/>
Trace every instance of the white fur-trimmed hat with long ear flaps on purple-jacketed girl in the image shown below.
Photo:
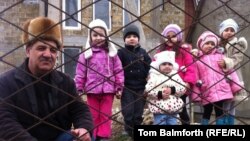
<path fill-rule="evenodd" d="M 108 36 L 108 27 L 103 20 L 95 19 L 92 22 L 90 22 L 89 29 L 88 29 L 88 38 L 86 41 L 85 48 L 83 49 L 83 50 L 85 50 L 85 52 L 84 52 L 85 59 L 88 59 L 93 55 L 91 45 L 90 45 L 90 38 L 91 38 L 90 30 L 95 28 L 95 27 L 103 28 L 106 32 L 106 35 Z M 110 42 L 111 39 L 109 37 L 106 39 L 108 39 L 109 56 L 114 57 L 117 54 L 117 49 L 115 48 L 115 45 Z"/>

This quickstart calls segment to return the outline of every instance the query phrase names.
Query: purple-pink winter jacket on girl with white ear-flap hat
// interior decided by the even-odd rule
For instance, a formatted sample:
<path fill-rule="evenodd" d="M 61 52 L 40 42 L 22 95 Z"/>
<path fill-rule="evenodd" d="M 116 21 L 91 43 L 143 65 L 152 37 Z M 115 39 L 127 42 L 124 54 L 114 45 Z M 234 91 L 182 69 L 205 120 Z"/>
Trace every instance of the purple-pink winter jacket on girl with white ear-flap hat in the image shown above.
<path fill-rule="evenodd" d="M 93 56 L 79 56 L 75 83 L 78 91 L 91 94 L 116 93 L 124 86 L 124 72 L 117 55 L 108 56 L 103 48 L 92 48 Z M 88 67 L 86 67 L 88 66 Z"/>

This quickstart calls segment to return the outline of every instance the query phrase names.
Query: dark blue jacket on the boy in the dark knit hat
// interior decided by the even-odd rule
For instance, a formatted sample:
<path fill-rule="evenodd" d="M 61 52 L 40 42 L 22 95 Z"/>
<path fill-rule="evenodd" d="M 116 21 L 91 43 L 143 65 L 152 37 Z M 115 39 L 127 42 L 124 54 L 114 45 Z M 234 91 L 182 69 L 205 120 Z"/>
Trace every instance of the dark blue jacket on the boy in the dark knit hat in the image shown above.
<path fill-rule="evenodd" d="M 140 45 L 133 47 L 125 45 L 118 50 L 125 75 L 125 87 L 133 90 L 143 90 L 150 69 L 151 58 Z"/>

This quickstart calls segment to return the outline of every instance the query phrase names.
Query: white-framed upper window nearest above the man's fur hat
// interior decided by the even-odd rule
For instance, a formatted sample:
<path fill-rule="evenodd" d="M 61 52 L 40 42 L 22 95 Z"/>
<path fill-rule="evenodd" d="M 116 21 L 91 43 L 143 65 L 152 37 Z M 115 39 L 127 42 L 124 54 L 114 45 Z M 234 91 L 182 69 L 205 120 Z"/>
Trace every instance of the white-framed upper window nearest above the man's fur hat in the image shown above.
<path fill-rule="evenodd" d="M 81 24 L 79 22 L 81 22 L 81 12 L 79 10 L 81 8 L 81 0 L 63 0 L 62 8 L 63 11 L 68 14 L 67 15 L 64 12 L 62 14 L 62 19 L 67 19 L 63 22 L 63 29 L 80 30 Z M 75 20 L 70 18 L 69 15 L 71 15 Z"/>

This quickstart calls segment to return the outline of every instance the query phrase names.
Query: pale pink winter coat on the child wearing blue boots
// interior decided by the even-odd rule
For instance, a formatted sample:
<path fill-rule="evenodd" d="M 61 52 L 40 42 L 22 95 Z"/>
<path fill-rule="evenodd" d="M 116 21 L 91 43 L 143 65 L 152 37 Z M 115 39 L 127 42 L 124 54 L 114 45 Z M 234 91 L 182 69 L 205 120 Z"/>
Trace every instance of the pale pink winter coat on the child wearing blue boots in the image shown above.
<path fill-rule="evenodd" d="M 225 79 L 225 72 L 217 63 L 223 57 L 224 55 L 213 52 L 202 55 L 196 61 L 197 80 L 201 80 L 202 85 L 194 86 L 192 96 L 199 94 L 202 105 L 233 98 L 230 83 Z"/>

